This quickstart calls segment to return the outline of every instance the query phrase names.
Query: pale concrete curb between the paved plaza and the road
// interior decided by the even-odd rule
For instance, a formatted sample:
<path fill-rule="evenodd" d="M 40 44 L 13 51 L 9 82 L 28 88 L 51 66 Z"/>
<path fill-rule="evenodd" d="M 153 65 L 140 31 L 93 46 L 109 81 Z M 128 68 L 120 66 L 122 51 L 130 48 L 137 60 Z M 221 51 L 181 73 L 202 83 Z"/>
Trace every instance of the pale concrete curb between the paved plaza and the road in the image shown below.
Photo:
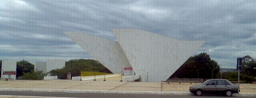
<path fill-rule="evenodd" d="M 116 94 L 163 94 L 163 95 L 194 95 L 190 92 L 176 91 L 115 91 L 115 90 L 65 90 L 65 89 L 30 89 L 30 88 L 0 88 L 0 91 L 38 91 L 38 92 L 66 92 L 66 93 L 116 93 Z M 238 94 L 233 94 L 238 96 Z M 240 93 L 239 96 L 256 96 L 256 93 Z"/>

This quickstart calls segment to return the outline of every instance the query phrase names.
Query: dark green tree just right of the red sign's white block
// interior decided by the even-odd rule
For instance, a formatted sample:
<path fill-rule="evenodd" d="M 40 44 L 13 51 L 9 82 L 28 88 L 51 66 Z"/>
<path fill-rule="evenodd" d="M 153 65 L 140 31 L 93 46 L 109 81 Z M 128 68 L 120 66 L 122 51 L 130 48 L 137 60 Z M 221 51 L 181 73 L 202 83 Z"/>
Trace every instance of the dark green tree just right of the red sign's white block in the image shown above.
<path fill-rule="evenodd" d="M 23 73 L 28 73 L 33 71 L 34 71 L 34 64 L 29 63 L 29 61 L 22 60 L 17 62 L 16 77 L 22 76 Z"/>

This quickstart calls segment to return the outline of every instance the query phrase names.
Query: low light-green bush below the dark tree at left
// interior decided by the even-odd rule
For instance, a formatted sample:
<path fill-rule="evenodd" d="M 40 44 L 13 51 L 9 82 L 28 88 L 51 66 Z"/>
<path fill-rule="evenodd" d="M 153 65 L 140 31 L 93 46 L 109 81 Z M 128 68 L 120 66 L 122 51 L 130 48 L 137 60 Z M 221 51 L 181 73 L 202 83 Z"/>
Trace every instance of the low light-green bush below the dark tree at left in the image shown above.
<path fill-rule="evenodd" d="M 43 80 L 44 76 L 47 76 L 48 73 L 43 73 L 42 71 L 36 71 L 36 72 L 27 72 L 23 73 L 23 76 L 21 76 L 21 79 L 24 80 Z"/>

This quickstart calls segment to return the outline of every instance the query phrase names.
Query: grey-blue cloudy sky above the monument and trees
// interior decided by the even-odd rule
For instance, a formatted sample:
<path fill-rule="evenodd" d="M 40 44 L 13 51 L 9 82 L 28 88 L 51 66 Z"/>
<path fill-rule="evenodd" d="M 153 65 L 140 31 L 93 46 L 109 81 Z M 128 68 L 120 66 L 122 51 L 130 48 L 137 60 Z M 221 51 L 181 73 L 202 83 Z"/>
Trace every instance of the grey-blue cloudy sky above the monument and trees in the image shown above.
<path fill-rule="evenodd" d="M 111 29 L 120 28 L 205 40 L 195 54 L 222 68 L 256 58 L 255 0 L 0 0 L 0 60 L 89 59 L 63 32 L 116 40 Z"/>

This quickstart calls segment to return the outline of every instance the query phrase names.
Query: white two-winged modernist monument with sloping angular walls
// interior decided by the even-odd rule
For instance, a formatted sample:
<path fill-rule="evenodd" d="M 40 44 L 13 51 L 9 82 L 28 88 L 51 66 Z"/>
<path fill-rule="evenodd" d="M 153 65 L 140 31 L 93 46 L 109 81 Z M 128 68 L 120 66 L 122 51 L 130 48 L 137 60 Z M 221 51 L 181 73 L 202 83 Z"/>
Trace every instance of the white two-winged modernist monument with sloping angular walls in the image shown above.
<path fill-rule="evenodd" d="M 141 82 L 167 80 L 205 41 L 182 41 L 137 29 L 112 29 L 118 42 L 80 32 L 64 34 L 113 73 L 132 67 Z"/>

